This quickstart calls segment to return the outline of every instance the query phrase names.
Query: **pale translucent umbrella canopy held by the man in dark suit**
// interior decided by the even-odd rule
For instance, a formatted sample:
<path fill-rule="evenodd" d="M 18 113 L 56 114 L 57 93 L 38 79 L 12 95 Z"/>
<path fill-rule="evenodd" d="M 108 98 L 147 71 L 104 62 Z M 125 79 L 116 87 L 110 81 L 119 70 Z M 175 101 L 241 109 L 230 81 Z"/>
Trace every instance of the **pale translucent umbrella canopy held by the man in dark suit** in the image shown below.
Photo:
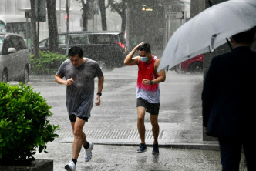
<path fill-rule="evenodd" d="M 256 0 L 230 0 L 191 18 L 173 33 L 158 67 L 172 68 L 196 55 L 213 52 L 226 39 L 256 25 Z"/>

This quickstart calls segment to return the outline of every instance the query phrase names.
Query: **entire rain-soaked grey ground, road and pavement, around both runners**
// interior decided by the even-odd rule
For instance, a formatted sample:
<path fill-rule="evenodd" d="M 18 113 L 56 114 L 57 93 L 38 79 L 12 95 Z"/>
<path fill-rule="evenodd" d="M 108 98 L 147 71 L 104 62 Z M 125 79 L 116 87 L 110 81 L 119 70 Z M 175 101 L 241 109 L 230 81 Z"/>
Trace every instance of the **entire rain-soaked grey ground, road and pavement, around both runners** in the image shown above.
<path fill-rule="evenodd" d="M 160 155 L 151 154 L 153 135 L 149 115 L 145 116 L 147 153 L 136 153 L 140 137 L 136 129 L 136 66 L 105 72 L 101 106 L 93 106 L 84 132 L 95 143 L 93 159 L 76 170 L 221 170 L 216 141 L 203 141 L 200 93 L 203 75 L 167 72 L 160 83 Z M 29 85 L 52 106 L 52 124 L 59 124 L 59 138 L 48 143 L 49 153 L 36 159 L 53 159 L 54 170 L 72 157 L 72 132 L 66 112 L 66 86 L 52 76 L 31 76 Z M 97 86 L 97 85 L 96 85 Z M 95 94 L 96 94 L 95 89 Z M 244 158 L 241 162 L 244 170 Z"/>

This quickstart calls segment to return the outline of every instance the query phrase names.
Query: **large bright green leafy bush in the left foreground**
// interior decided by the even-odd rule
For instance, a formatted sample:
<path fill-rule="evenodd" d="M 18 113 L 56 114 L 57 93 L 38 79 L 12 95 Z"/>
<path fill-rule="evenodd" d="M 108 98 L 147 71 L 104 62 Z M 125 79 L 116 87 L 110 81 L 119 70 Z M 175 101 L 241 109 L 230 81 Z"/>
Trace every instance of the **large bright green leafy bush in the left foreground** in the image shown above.
<path fill-rule="evenodd" d="M 58 137 L 47 117 L 51 107 L 31 86 L 0 82 L 0 163 L 31 163 L 39 147 Z M 46 152 L 46 151 L 45 151 Z"/>

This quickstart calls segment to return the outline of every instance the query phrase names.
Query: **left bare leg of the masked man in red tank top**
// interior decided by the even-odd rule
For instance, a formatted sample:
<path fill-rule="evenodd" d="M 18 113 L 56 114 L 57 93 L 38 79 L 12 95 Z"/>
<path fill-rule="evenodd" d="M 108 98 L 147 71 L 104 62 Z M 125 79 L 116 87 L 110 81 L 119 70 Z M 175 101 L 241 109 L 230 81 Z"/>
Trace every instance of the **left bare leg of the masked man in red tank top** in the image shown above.
<path fill-rule="evenodd" d="M 138 127 L 138 132 L 140 134 L 141 143 L 143 144 L 145 144 L 145 124 L 144 124 L 145 110 L 146 109 L 143 106 L 137 107 L 137 112 L 138 112 L 137 127 Z"/>

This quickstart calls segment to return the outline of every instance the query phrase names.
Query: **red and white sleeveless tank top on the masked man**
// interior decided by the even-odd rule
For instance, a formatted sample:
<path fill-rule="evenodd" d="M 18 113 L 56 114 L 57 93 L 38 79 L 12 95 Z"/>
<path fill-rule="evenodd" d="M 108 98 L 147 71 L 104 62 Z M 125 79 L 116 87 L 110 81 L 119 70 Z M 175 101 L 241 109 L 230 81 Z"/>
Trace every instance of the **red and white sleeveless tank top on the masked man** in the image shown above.
<path fill-rule="evenodd" d="M 160 103 L 160 89 L 159 84 L 144 85 L 142 83 L 143 79 L 153 80 L 158 77 L 155 71 L 154 64 L 156 62 L 157 56 L 153 56 L 150 63 L 139 61 L 138 64 L 138 79 L 136 86 L 136 98 L 141 97 L 150 103 Z"/>

